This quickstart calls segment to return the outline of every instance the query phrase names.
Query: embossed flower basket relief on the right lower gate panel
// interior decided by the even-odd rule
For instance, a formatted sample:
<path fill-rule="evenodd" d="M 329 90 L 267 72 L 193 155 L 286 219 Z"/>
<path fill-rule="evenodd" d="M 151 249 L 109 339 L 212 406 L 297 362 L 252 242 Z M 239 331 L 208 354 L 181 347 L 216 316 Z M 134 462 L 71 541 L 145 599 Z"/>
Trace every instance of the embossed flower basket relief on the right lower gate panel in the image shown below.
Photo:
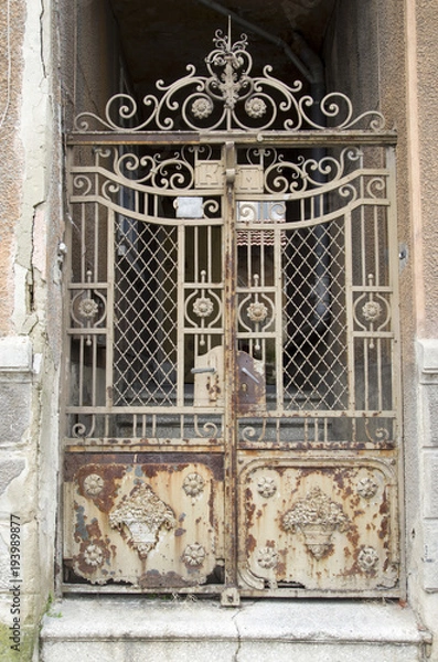
<path fill-rule="evenodd" d="M 285 531 L 305 534 L 306 546 L 314 558 L 327 556 L 335 530 L 343 533 L 350 526 L 342 506 L 332 501 L 320 488 L 313 488 L 282 516 Z"/>

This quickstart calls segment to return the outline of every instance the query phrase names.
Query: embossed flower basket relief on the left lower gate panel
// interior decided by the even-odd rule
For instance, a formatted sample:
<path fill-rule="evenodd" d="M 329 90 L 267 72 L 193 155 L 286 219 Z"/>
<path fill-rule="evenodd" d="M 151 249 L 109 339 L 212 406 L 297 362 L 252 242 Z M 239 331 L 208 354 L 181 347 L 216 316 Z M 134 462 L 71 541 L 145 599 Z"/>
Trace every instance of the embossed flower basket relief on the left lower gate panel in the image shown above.
<path fill-rule="evenodd" d="M 174 528 L 177 521 L 172 509 L 157 496 L 150 485 L 141 483 L 109 513 L 109 524 L 119 530 L 126 526 L 132 546 L 140 558 L 146 558 L 157 545 L 160 531 Z"/>

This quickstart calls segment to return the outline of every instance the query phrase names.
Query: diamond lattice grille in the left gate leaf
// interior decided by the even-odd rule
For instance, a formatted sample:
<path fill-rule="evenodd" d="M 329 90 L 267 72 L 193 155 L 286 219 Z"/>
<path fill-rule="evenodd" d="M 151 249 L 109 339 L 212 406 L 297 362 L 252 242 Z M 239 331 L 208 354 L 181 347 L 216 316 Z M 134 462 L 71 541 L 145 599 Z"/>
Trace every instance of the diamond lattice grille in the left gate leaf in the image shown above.
<path fill-rule="evenodd" d="M 116 255 L 114 403 L 174 404 L 177 229 L 124 218 Z"/>

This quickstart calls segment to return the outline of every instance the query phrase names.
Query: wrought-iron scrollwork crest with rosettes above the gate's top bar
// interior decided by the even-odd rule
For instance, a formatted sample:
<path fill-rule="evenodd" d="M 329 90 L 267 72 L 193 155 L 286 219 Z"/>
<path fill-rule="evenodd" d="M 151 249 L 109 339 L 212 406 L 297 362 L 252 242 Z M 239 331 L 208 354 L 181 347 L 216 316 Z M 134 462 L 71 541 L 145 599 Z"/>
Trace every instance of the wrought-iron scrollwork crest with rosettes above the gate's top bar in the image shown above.
<path fill-rule="evenodd" d="M 302 83 L 286 85 L 271 75 L 266 65 L 261 76 L 250 76 L 253 58 L 247 52 L 247 36 L 232 42 L 231 30 L 224 35 L 217 30 L 213 39 L 215 47 L 205 58 L 207 75 L 197 75 L 196 67 L 186 66 L 188 74 L 171 85 L 158 81 L 160 94 L 148 94 L 142 99 L 141 116 L 137 100 L 127 94 L 116 94 L 106 104 L 105 117 L 94 113 L 81 113 L 74 121 L 74 130 L 143 131 L 143 130 L 214 130 L 261 131 L 277 128 L 298 131 L 322 130 L 327 124 L 332 129 L 360 128 L 367 124 L 372 131 L 384 129 L 381 113 L 370 110 L 354 118 L 353 106 L 342 93 L 330 93 L 320 102 L 310 95 L 299 97 Z M 319 106 L 323 124 L 312 119 Z M 136 124 L 137 122 L 137 124 Z"/>

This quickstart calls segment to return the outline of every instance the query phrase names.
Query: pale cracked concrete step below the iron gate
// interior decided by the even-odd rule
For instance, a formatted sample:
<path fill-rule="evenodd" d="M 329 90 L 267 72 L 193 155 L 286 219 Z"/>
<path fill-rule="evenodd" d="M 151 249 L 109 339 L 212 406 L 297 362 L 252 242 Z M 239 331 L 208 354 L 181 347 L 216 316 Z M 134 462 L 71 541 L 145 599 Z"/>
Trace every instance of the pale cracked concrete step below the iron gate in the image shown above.
<path fill-rule="evenodd" d="M 409 608 L 351 600 L 67 597 L 41 631 L 41 662 L 424 662 Z"/>

